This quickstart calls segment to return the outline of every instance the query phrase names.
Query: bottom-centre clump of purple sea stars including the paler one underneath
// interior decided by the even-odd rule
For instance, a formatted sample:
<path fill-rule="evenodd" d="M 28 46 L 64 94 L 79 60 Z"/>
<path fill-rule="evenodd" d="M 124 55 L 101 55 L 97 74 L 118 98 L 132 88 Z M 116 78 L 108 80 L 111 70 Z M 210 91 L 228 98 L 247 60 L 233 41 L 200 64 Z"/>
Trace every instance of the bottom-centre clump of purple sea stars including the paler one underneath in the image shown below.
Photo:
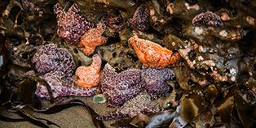
<path fill-rule="evenodd" d="M 157 70 L 144 67 L 143 70 L 130 69 L 118 74 L 107 63 L 101 73 L 101 89 L 108 100 L 108 106 L 121 107 L 98 119 L 109 121 L 134 117 L 138 113 L 161 111 L 161 105 L 153 100 L 170 93 L 171 88 L 166 84 L 166 80 L 173 78 L 174 71 L 168 68 Z"/>

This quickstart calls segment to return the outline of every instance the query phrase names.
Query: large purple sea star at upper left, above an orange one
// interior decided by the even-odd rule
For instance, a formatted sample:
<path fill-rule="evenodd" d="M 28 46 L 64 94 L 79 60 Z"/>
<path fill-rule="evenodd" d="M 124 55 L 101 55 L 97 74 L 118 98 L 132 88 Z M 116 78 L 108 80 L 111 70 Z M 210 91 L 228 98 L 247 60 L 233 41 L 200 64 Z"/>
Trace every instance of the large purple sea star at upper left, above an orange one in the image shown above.
<path fill-rule="evenodd" d="M 84 32 L 94 26 L 93 23 L 86 21 L 81 15 L 77 14 L 79 11 L 77 4 L 73 4 L 73 6 L 68 9 L 68 12 L 66 12 L 60 4 L 57 3 L 54 6 L 54 11 L 57 14 L 57 33 L 70 44 L 77 45 L 79 38 Z"/>

